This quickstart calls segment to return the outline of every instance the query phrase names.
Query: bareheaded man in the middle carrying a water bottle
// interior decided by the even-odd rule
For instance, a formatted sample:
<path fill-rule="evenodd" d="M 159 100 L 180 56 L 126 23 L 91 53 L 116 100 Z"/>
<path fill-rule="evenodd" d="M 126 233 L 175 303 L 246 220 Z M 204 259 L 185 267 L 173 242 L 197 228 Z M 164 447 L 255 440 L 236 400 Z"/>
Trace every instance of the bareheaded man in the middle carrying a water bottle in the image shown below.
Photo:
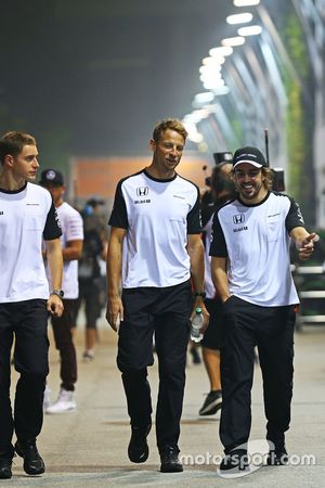
<path fill-rule="evenodd" d="M 152 426 L 147 367 L 159 361 L 156 437 L 160 471 L 183 471 L 178 440 L 185 385 L 190 314 L 204 304 L 204 248 L 198 188 L 177 172 L 186 130 L 176 119 L 159 123 L 151 147 L 152 164 L 117 185 L 107 254 L 107 320 L 117 330 L 118 368 L 131 420 L 130 461 L 148 457 Z M 191 280 L 194 299 L 191 293 Z M 120 297 L 120 281 L 122 296 Z"/>

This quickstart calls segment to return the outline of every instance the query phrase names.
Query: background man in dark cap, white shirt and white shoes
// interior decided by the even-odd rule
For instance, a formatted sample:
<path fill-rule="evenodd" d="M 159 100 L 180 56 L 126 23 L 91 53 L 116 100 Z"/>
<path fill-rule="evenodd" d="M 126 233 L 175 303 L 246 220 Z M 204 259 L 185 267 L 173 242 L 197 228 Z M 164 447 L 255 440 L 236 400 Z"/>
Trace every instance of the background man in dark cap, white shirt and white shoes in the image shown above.
<path fill-rule="evenodd" d="M 63 256 L 64 312 L 52 317 L 56 349 L 61 358 L 61 388 L 53 404 L 46 406 L 46 413 L 64 413 L 76 410 L 75 384 L 77 382 L 76 348 L 72 329 L 75 325 L 78 299 L 78 259 L 82 252 L 83 230 L 80 214 L 64 202 L 64 179 L 56 169 L 44 169 L 40 184 L 52 195 L 61 227 L 61 247 Z"/>

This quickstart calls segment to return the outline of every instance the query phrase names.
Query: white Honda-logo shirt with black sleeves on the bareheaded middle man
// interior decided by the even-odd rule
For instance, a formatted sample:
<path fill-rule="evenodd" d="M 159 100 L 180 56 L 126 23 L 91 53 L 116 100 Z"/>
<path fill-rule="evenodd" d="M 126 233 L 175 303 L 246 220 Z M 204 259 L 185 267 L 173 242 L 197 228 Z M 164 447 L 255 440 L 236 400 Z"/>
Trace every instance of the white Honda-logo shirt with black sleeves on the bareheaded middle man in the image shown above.
<path fill-rule="evenodd" d="M 108 222 L 127 229 L 122 287 L 173 286 L 190 279 L 187 234 L 200 233 L 198 188 L 146 170 L 119 181 Z"/>

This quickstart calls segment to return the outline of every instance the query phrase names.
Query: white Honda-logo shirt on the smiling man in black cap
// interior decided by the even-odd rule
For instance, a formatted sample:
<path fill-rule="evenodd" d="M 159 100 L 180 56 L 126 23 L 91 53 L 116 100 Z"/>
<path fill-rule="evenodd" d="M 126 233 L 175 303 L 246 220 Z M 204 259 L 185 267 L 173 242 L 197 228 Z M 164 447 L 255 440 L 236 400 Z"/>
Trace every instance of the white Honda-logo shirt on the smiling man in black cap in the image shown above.
<path fill-rule="evenodd" d="M 257 205 L 232 201 L 216 213 L 210 256 L 229 258 L 232 295 L 264 307 L 299 303 L 289 259 L 295 227 L 304 227 L 299 205 L 276 192 Z"/>

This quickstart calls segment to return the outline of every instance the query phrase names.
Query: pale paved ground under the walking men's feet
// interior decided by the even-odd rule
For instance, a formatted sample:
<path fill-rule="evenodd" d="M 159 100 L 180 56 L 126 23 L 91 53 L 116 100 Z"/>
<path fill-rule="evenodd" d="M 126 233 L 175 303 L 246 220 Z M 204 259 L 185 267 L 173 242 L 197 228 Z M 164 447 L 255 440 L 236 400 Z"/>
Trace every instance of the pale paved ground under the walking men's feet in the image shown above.
<path fill-rule="evenodd" d="M 51 334 L 50 334 L 51 335 Z M 52 342 L 52 341 L 51 341 Z M 199 418 L 198 409 L 208 391 L 208 381 L 202 364 L 194 365 L 188 356 L 187 383 L 180 439 L 181 453 L 187 464 L 180 474 L 159 473 L 159 458 L 154 429 L 150 435 L 151 454 L 143 465 L 129 462 L 129 421 L 119 373 L 115 365 L 116 336 L 104 323 L 100 343 L 91 363 L 81 360 L 83 331 L 76 334 L 79 358 L 77 385 L 78 410 L 75 413 L 46 415 L 39 437 L 39 449 L 47 473 L 29 477 L 15 458 L 14 476 L 0 481 L 11 487 L 325 487 L 325 328 L 308 328 L 296 334 L 295 390 L 291 428 L 287 448 L 295 454 L 289 466 L 262 467 L 237 479 L 223 479 L 217 474 L 222 455 L 218 437 L 219 420 Z M 49 385 L 53 399 L 58 390 L 58 357 L 51 347 Z M 13 373 L 13 383 L 16 374 Z M 157 369 L 151 369 L 153 398 L 157 391 Z M 264 415 L 259 368 L 252 391 L 253 423 L 251 448 L 263 449 Z M 311 455 L 315 465 L 303 463 Z M 310 462 L 309 462 L 310 464 Z"/>

